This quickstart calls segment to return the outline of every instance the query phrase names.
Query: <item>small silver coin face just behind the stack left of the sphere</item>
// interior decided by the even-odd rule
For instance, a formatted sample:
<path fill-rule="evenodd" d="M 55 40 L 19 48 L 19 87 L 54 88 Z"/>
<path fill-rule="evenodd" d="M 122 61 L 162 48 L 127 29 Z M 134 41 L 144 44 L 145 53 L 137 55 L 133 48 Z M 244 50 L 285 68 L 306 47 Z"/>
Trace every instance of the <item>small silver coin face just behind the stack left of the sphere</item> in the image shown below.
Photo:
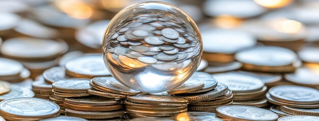
<path fill-rule="evenodd" d="M 45 82 L 47 83 L 54 83 L 58 82 L 59 80 L 65 79 L 65 68 L 64 67 L 52 67 L 43 72 L 43 77 Z"/>

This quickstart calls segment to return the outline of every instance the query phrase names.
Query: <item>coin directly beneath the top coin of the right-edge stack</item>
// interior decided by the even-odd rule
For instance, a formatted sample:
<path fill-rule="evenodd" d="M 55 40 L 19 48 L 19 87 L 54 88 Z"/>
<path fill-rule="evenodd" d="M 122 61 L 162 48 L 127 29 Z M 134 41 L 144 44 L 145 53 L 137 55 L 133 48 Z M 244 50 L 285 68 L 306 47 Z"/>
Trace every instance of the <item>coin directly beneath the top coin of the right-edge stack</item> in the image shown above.
<path fill-rule="evenodd" d="M 280 102 L 271 98 L 269 93 L 266 94 L 266 98 L 268 99 L 268 102 L 273 103 L 275 105 L 296 107 L 296 108 L 319 108 L 319 104 L 290 104 L 290 103 Z"/>

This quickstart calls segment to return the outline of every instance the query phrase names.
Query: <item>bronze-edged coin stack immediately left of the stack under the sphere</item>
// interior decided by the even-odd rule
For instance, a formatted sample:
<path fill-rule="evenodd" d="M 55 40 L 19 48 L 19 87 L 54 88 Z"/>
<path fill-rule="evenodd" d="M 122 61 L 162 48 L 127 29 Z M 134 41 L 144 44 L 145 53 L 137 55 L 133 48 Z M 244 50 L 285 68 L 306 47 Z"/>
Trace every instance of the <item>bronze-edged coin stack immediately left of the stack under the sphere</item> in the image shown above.
<path fill-rule="evenodd" d="M 124 114 L 124 101 L 99 96 L 70 97 L 64 99 L 66 115 L 87 119 L 118 118 Z"/>

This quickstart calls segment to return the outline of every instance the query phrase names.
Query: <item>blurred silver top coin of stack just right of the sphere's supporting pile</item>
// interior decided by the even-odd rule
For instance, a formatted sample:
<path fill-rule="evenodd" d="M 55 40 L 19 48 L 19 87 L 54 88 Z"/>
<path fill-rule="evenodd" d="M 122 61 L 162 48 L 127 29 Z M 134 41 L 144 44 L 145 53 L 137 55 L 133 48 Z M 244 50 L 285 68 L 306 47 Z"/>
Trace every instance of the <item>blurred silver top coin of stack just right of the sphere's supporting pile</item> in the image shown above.
<path fill-rule="evenodd" d="M 233 93 L 246 93 L 261 90 L 264 86 L 262 80 L 254 75 L 240 72 L 227 72 L 212 74 L 212 77 L 225 84 Z"/>

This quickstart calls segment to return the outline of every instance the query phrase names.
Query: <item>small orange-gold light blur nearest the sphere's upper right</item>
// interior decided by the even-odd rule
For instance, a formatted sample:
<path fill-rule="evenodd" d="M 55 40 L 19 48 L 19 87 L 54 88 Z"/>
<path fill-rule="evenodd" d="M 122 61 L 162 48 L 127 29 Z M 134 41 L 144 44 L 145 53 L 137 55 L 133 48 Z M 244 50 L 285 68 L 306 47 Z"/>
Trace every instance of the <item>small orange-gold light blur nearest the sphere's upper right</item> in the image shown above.
<path fill-rule="evenodd" d="M 216 17 L 213 23 L 221 28 L 235 28 L 242 23 L 242 20 L 232 16 L 222 15 Z"/>

